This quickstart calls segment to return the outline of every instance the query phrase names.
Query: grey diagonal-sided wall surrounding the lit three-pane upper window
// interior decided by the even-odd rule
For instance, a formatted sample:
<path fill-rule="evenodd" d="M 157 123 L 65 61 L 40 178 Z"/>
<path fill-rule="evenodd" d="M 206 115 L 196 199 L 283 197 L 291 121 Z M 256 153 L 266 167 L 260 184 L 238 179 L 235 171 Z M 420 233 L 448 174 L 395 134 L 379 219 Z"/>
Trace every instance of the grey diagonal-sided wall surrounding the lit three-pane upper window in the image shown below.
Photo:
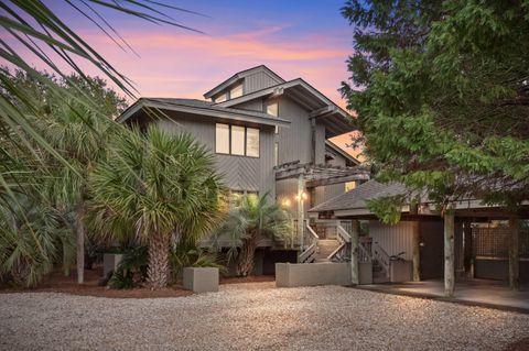
<path fill-rule="evenodd" d="M 174 119 L 156 121 L 160 128 L 168 131 L 186 131 L 204 143 L 215 153 L 215 123 L 214 119 L 193 118 L 187 114 L 174 114 Z M 177 119 L 177 120 L 176 120 Z M 224 175 L 224 182 L 230 189 L 251 190 L 261 194 L 270 191 L 274 197 L 273 174 L 273 127 L 260 127 L 260 156 L 246 157 L 215 154 L 217 169 Z"/>

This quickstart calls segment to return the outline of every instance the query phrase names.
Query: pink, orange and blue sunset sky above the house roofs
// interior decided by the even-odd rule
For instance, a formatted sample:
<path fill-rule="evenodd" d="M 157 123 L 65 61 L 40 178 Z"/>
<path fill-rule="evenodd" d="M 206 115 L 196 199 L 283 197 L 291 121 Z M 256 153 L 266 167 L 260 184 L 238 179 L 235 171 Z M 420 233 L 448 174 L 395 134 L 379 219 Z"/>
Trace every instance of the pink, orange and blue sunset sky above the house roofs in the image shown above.
<path fill-rule="evenodd" d="M 353 30 L 339 14 L 343 0 L 166 1 L 206 15 L 168 10 L 182 25 L 205 34 L 101 10 L 138 55 L 123 52 L 63 1 L 45 2 L 133 80 L 139 96 L 203 99 L 205 91 L 234 73 L 264 64 L 287 80 L 303 77 L 345 107 L 337 89 L 347 78 Z M 99 74 L 95 67 L 83 68 Z M 348 136 L 334 141 L 344 145 Z"/>

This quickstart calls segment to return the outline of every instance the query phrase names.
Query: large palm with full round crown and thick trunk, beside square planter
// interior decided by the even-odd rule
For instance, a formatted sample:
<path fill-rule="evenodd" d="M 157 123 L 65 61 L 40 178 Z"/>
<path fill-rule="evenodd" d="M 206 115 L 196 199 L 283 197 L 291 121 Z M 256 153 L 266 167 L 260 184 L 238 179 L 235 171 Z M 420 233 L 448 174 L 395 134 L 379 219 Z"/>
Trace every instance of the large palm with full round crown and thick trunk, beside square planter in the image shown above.
<path fill-rule="evenodd" d="M 134 237 L 149 248 L 148 283 L 168 285 L 172 238 L 197 238 L 219 221 L 222 185 L 213 155 L 190 134 L 150 127 L 118 134 L 90 178 L 100 239 Z"/>

